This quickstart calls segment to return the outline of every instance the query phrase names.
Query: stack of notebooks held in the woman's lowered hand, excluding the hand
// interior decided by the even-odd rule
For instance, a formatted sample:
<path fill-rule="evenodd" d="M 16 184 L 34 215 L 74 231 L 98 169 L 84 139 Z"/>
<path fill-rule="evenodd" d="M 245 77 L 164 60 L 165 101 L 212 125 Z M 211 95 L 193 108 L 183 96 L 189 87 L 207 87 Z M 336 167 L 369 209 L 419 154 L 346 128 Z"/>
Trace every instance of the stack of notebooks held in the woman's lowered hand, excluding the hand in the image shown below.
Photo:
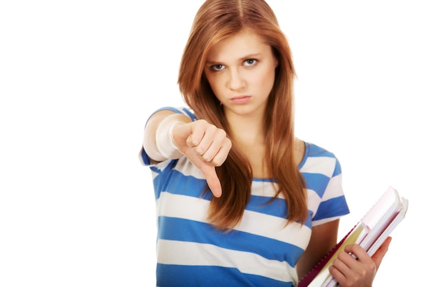
<path fill-rule="evenodd" d="M 347 244 L 360 244 L 369 255 L 384 243 L 391 231 L 405 217 L 408 200 L 400 196 L 396 189 L 389 187 L 381 198 L 369 209 L 360 222 L 324 256 L 302 279 L 297 287 L 337 287 L 337 281 L 328 272 L 333 259 Z"/>

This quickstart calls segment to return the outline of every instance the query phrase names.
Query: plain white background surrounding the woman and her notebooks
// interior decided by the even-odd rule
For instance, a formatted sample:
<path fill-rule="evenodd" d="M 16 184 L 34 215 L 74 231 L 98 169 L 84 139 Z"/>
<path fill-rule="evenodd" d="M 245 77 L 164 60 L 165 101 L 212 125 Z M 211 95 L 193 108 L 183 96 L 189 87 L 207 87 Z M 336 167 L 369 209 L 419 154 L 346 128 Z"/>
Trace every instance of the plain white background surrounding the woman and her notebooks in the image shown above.
<path fill-rule="evenodd" d="M 374 286 L 430 272 L 427 2 L 268 1 L 297 68 L 297 135 L 342 164 L 340 236 L 389 185 L 409 199 Z M 149 114 L 183 105 L 177 69 L 201 3 L 0 3 L 0 286 L 155 286 L 138 151 Z"/>

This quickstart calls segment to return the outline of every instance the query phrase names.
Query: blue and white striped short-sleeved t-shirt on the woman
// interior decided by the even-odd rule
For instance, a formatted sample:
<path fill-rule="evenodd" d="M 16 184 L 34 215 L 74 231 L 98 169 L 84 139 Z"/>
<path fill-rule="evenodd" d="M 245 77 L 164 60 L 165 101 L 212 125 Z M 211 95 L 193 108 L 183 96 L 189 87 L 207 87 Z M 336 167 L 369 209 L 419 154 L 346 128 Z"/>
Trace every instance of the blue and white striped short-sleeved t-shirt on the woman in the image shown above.
<path fill-rule="evenodd" d="M 195 120 L 187 109 L 170 109 Z M 186 157 L 151 164 L 157 211 L 157 286 L 272 286 L 298 281 L 295 264 L 311 237 L 311 227 L 349 213 L 335 155 L 306 142 L 300 171 L 308 190 L 306 224 L 286 226 L 283 198 L 271 203 L 271 180 L 254 178 L 242 221 L 223 233 L 208 224 L 211 198 L 206 180 Z"/>

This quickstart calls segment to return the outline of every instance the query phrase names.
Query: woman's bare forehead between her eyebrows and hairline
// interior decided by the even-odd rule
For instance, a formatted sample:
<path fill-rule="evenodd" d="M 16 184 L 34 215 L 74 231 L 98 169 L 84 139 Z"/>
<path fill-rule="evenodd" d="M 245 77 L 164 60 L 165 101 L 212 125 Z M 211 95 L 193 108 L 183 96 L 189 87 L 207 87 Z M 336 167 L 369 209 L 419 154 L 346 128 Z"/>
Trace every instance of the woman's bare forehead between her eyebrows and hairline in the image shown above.
<path fill-rule="evenodd" d="M 253 30 L 245 29 L 213 45 L 208 52 L 207 60 L 235 60 L 251 54 L 266 54 L 268 52 L 271 52 L 271 47 L 264 42 L 262 36 Z"/>

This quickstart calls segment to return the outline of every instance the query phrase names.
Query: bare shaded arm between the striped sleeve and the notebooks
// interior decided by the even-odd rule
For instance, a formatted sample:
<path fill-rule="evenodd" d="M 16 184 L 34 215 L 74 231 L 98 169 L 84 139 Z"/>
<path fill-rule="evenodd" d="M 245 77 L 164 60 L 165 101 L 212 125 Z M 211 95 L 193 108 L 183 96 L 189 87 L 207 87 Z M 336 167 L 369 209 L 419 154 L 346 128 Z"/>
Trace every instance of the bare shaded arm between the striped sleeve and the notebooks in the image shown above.
<path fill-rule="evenodd" d="M 336 245 L 338 228 L 339 220 L 312 227 L 311 240 L 299 262 L 297 262 L 299 279 L 306 275 Z"/>

